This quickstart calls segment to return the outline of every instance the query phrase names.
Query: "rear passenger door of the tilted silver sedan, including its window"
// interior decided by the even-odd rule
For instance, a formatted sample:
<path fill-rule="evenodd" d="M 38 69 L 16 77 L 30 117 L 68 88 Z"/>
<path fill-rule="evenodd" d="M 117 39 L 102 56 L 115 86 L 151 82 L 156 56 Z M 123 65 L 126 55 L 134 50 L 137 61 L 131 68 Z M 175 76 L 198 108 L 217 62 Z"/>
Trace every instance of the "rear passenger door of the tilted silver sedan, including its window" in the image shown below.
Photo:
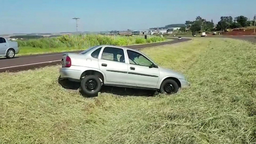
<path fill-rule="evenodd" d="M 100 53 L 99 67 L 106 76 L 106 84 L 124 84 L 128 75 L 128 64 L 125 62 L 124 49 L 104 47 Z"/>

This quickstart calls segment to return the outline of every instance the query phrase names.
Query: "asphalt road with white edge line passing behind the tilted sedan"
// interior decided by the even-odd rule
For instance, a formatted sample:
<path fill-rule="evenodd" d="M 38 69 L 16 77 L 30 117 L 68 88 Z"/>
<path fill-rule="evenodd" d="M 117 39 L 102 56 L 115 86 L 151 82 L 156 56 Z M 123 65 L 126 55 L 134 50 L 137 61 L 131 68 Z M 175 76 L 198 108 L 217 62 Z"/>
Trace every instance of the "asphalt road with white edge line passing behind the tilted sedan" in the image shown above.
<path fill-rule="evenodd" d="M 182 41 L 191 40 L 190 38 L 183 38 L 182 40 L 177 40 L 177 38 L 173 41 L 166 41 L 162 43 L 152 43 L 152 44 L 141 44 L 141 45 L 133 45 L 126 46 L 132 49 L 140 49 L 146 47 L 154 47 L 154 46 L 162 46 L 166 44 L 174 44 Z M 73 51 L 74 53 L 79 53 L 81 51 Z M 16 71 L 24 71 L 28 69 L 40 68 L 44 66 L 57 65 L 61 63 L 62 53 L 51 53 L 51 54 L 38 54 L 31 56 L 20 56 L 15 57 L 13 59 L 0 59 L 0 72 L 16 72 Z"/>

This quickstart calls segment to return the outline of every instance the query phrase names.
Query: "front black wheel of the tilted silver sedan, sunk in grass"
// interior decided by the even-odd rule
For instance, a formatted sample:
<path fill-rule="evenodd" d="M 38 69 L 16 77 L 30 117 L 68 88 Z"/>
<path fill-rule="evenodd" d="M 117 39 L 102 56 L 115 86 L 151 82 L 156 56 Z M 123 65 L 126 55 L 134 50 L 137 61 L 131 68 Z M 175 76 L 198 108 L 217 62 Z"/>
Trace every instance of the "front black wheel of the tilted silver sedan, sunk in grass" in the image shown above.
<path fill-rule="evenodd" d="M 179 85 L 173 79 L 166 79 L 162 82 L 160 93 L 175 94 L 179 90 Z"/>

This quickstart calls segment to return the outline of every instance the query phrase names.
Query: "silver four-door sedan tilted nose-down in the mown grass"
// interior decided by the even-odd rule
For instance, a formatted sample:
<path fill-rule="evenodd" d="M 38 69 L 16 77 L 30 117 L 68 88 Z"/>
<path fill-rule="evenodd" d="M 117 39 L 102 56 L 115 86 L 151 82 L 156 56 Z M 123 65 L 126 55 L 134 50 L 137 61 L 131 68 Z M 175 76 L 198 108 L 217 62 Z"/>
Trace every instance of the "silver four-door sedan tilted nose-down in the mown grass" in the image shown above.
<path fill-rule="evenodd" d="M 60 78 L 80 82 L 87 96 L 97 96 L 102 85 L 177 93 L 188 82 L 181 73 L 158 66 L 138 50 L 100 45 L 81 53 L 63 53 Z"/>

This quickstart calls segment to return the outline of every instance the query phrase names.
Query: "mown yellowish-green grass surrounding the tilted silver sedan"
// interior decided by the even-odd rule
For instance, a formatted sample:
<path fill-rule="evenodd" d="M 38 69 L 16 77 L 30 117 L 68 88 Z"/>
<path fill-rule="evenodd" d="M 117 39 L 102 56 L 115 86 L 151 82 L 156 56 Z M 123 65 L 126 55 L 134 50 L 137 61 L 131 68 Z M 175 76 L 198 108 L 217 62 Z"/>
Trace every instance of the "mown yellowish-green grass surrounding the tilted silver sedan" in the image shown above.
<path fill-rule="evenodd" d="M 0 73 L 0 143 L 256 143 L 255 44 L 194 38 L 141 51 L 191 86 L 172 96 L 85 98 L 58 84 L 60 66 Z"/>

